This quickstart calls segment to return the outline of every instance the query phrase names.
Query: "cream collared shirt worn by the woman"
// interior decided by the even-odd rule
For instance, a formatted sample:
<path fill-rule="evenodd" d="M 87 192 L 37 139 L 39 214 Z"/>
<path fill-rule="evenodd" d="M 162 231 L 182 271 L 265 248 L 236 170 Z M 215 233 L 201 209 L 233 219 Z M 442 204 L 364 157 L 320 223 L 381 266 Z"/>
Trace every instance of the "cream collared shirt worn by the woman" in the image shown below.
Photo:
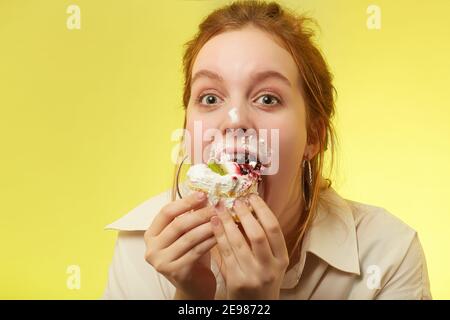
<path fill-rule="evenodd" d="M 175 287 L 145 261 L 144 232 L 170 191 L 106 226 L 118 230 L 103 299 L 172 299 Z M 417 232 L 383 208 L 321 192 L 300 261 L 285 276 L 280 299 L 431 299 Z M 225 283 L 215 260 L 216 299 Z"/>

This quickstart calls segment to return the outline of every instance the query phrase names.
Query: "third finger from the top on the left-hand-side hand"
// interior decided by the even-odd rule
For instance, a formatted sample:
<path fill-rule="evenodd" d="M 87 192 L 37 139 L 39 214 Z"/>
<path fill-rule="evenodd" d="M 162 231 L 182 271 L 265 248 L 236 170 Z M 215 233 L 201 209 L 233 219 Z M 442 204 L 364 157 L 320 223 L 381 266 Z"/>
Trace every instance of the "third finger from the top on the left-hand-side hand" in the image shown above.
<path fill-rule="evenodd" d="M 175 261 L 210 237 L 214 237 L 214 233 L 211 223 L 208 221 L 184 234 L 172 245 L 163 249 L 162 253 L 166 256 L 166 261 Z"/>

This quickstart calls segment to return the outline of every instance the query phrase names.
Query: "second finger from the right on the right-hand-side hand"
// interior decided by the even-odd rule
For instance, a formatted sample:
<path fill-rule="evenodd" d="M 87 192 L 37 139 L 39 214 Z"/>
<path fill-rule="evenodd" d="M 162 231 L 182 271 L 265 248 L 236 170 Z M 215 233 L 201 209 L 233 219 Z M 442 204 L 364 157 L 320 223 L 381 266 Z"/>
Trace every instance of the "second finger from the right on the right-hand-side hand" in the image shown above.
<path fill-rule="evenodd" d="M 241 221 L 242 228 L 244 228 L 244 232 L 250 241 L 255 257 L 260 261 L 272 259 L 272 249 L 266 233 L 248 207 L 241 200 L 236 200 L 233 210 Z"/>

